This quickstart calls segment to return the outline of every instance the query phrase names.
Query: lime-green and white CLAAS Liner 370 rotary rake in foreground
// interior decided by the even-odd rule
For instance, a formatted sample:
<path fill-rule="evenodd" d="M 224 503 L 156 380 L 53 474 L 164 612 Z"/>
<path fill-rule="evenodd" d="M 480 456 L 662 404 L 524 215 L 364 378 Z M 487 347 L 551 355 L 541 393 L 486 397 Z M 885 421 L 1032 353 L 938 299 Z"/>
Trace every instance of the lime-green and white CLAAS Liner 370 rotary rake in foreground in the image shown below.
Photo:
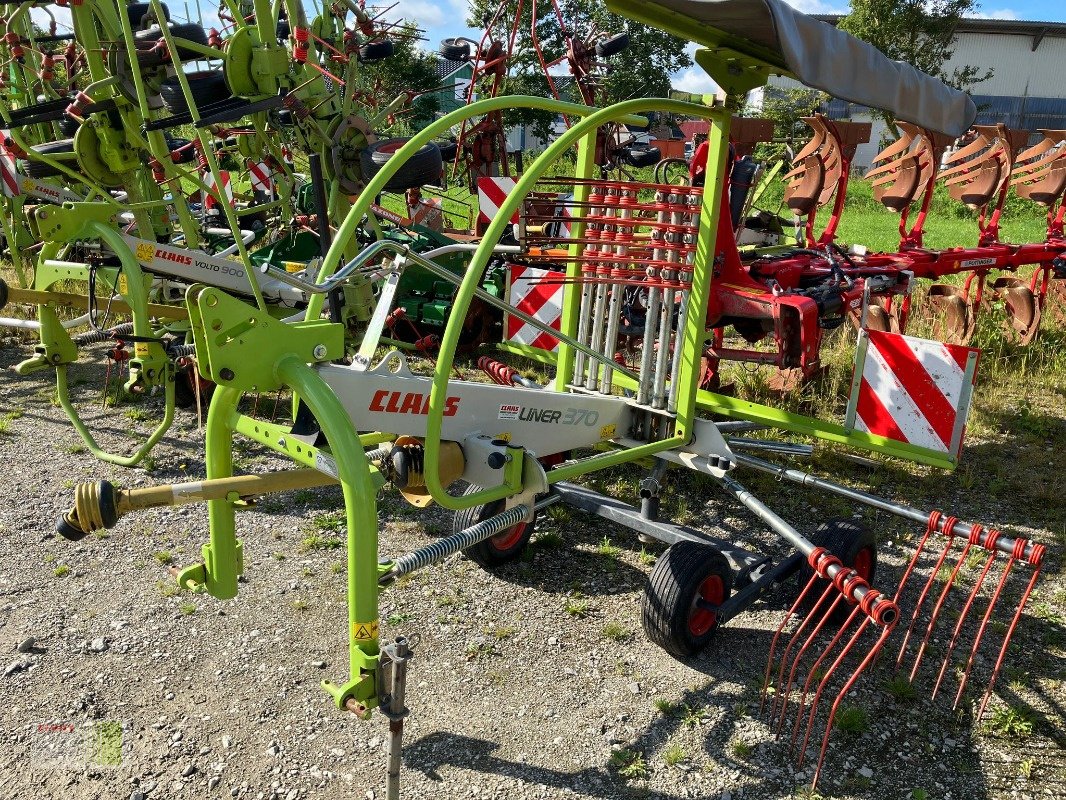
<path fill-rule="evenodd" d="M 927 684 L 933 694 L 950 693 L 956 704 L 969 697 L 968 687 L 976 687 L 983 710 L 1039 574 L 1044 556 L 1039 544 L 1011 539 L 938 511 L 909 508 L 743 452 L 753 448 L 778 453 L 809 451 L 804 446 L 753 444 L 733 437 L 739 430 L 776 427 L 833 444 L 952 467 L 958 454 L 967 391 L 955 398 L 957 402 L 948 403 L 948 411 L 957 412 L 958 419 L 946 434 L 951 444 L 946 439 L 946 446 L 938 449 L 899 442 L 861 426 L 786 414 L 698 388 L 700 356 L 709 336 L 707 319 L 714 313 L 708 306 L 713 297 L 713 254 L 723 212 L 728 128 L 745 93 L 762 85 L 771 74 L 790 75 L 953 135 L 972 122 L 972 101 L 912 67 L 891 62 L 868 45 L 810 20 L 780 0 L 610 0 L 609 6 L 700 45 L 696 61 L 722 86 L 722 93 L 705 98 L 705 105 L 627 100 L 576 122 L 518 181 L 462 278 L 390 241 L 374 242 L 340 266 L 340 253 L 372 198 L 406 157 L 464 114 L 486 113 L 517 102 L 543 107 L 545 101 L 491 98 L 427 126 L 356 198 L 339 226 L 317 283 L 263 268 L 271 276 L 288 279 L 313 294 L 307 321 L 284 325 L 219 288 L 198 285 L 190 289 L 187 303 L 198 365 L 217 384 L 207 421 L 207 479 L 129 491 L 107 482 L 83 484 L 77 490 L 75 508 L 59 523 L 61 533 L 78 539 L 116 525 L 119 517 L 136 509 L 206 501 L 210 538 L 203 547 L 204 562 L 182 570 L 178 580 L 229 598 L 237 594 L 243 570 L 244 543 L 238 540 L 235 526 L 240 501 L 271 492 L 339 483 L 348 523 L 350 674 L 340 683 L 324 682 L 323 688 L 339 708 L 367 717 L 377 707 L 389 719 L 389 797 L 399 796 L 410 649 L 403 637 L 385 644 L 378 639 L 381 588 L 461 550 L 486 567 L 505 563 L 522 551 L 536 512 L 551 503 L 569 503 L 669 544 L 645 590 L 643 623 L 653 642 L 678 657 L 700 651 L 718 626 L 786 577 L 796 572 L 807 576 L 774 637 L 764 706 L 775 727 L 793 741 L 801 761 L 812 749 L 811 738 L 813 747 L 820 740 L 815 783 L 834 714 L 875 660 L 889 667 L 894 663 L 911 679 Z M 615 263 L 589 275 L 582 263 L 585 245 L 580 243 L 585 238 L 583 209 L 594 193 L 610 194 L 617 189 L 613 183 L 598 187 L 593 180 L 597 129 L 653 110 L 711 123 L 709 141 L 715 157 L 708 164 L 705 191 L 693 195 L 697 197 L 694 204 L 687 201 L 678 208 L 657 208 L 651 214 L 676 214 L 691 223 L 693 231 L 652 239 L 658 246 L 612 241 Z M 480 290 L 479 281 L 522 198 L 555 159 L 576 144 L 576 241 L 567 265 L 561 331 L 555 332 Z M 628 204 L 615 207 L 619 217 L 647 215 L 635 193 L 626 196 Z M 667 225 L 666 230 L 673 228 Z M 589 256 L 594 266 L 601 263 L 598 254 L 603 252 L 595 250 Z M 432 378 L 415 375 L 399 352 L 376 364 L 368 357 L 376 351 L 388 313 L 387 293 L 369 323 L 359 356 L 350 366 L 336 363 L 343 354 L 343 331 L 319 319 L 324 295 L 350 275 L 376 273 L 388 279 L 413 263 L 435 272 L 442 281 L 458 283 L 457 310 L 441 339 Z M 640 283 L 644 285 L 637 286 Z M 616 339 L 623 335 L 621 298 L 634 287 L 647 291 L 648 310 L 643 353 L 630 367 L 615 361 L 614 355 Z M 558 353 L 539 352 L 544 361 L 554 365 L 551 385 L 531 384 L 502 364 L 486 366 L 504 385 L 451 378 L 462 320 L 475 298 L 559 338 Z M 902 337 L 889 341 L 877 337 L 891 334 L 873 333 L 876 337 L 867 342 L 871 348 L 891 349 L 901 342 L 910 347 L 921 341 Z M 939 342 L 933 345 L 944 348 Z M 528 349 L 522 352 L 536 355 Z M 972 387 L 975 355 L 950 351 L 943 357 L 939 371 L 950 371 L 950 362 L 957 362 L 959 370 L 966 364 L 969 371 L 964 383 Z M 245 393 L 286 387 L 298 398 L 300 405 L 291 426 L 238 411 Z M 925 389 L 928 394 L 936 387 Z M 708 415 L 731 419 L 715 422 Z M 232 445 L 237 433 L 288 455 L 300 468 L 235 476 Z M 648 461 L 658 466 L 641 482 L 641 511 L 570 482 L 607 467 Z M 728 541 L 657 519 L 662 474 L 677 465 L 710 476 L 795 553 L 775 563 Z M 813 541 L 804 538 L 737 480 L 740 467 L 835 493 L 923 526 L 925 534 L 899 587 L 893 591 L 877 588 L 876 543 L 869 533 L 854 524 L 837 523 L 823 526 Z M 449 494 L 448 486 L 461 478 L 469 484 L 465 494 Z M 413 553 L 379 559 L 375 497 L 389 481 L 417 506 L 435 501 L 455 510 L 454 534 Z M 956 580 L 964 572 L 967 580 Z M 946 574 L 948 579 L 943 579 Z M 937 623 L 951 630 L 946 653 L 939 645 L 931 646 Z M 983 654 L 985 651 L 990 657 Z"/>

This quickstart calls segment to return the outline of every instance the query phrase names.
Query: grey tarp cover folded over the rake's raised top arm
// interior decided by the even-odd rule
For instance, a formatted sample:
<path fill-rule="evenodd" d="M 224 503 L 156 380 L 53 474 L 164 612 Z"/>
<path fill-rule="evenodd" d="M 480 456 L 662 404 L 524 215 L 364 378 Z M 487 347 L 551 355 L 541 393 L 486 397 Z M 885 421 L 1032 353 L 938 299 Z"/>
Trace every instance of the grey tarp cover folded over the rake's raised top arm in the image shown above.
<path fill-rule="evenodd" d="M 651 0 L 648 5 L 780 53 L 788 69 L 808 86 L 890 111 L 923 128 L 958 137 L 978 113 L 965 92 L 892 61 L 873 45 L 811 19 L 782 0 Z"/>

